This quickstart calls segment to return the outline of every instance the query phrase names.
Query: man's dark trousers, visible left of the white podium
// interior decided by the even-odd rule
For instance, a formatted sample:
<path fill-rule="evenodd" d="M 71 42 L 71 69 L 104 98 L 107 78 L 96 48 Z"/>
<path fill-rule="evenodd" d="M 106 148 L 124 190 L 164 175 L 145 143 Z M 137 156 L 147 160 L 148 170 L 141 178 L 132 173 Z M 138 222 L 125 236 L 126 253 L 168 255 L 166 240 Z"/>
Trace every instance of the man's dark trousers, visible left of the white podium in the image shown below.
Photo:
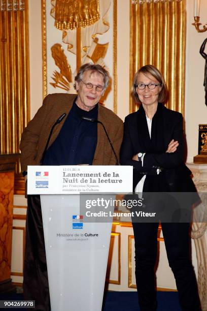
<path fill-rule="evenodd" d="M 49 311 L 50 295 L 40 196 L 28 196 L 27 205 L 23 296 L 25 300 L 36 301 L 35 310 Z"/>

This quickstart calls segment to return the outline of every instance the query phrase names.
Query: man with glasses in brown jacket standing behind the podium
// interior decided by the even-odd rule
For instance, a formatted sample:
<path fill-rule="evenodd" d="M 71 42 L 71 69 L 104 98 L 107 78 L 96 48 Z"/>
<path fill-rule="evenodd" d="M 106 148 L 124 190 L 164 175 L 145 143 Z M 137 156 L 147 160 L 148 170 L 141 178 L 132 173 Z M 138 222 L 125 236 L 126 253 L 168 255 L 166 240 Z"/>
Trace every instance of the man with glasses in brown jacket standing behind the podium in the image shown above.
<path fill-rule="evenodd" d="M 43 106 L 22 133 L 21 168 L 26 175 L 28 165 L 115 165 L 116 159 L 105 132 L 106 127 L 115 152 L 123 136 L 123 122 L 111 110 L 98 102 L 109 84 L 109 73 L 100 65 L 85 64 L 75 77 L 78 95 L 48 95 Z M 55 121 L 63 113 L 64 119 L 56 125 L 43 152 Z M 45 255 L 40 196 L 28 196 L 26 244 L 24 260 L 24 299 L 36 300 L 36 310 L 48 311 L 50 297 Z"/>

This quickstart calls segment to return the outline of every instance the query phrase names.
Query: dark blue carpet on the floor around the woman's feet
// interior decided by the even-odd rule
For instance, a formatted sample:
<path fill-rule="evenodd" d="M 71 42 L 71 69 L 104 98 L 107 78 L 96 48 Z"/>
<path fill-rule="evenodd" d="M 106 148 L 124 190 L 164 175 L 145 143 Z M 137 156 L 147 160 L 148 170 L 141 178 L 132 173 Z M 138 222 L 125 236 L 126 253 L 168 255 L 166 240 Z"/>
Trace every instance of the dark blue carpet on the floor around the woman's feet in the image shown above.
<path fill-rule="evenodd" d="M 22 294 L 0 295 L 0 300 L 22 300 Z M 158 292 L 157 311 L 181 311 L 177 292 Z M 1 308 L 1 310 L 6 310 Z M 23 308 L 9 308 L 9 310 L 22 310 Z M 32 310 L 32 309 L 31 309 Z M 107 292 L 103 301 L 102 311 L 139 311 L 136 292 Z"/>

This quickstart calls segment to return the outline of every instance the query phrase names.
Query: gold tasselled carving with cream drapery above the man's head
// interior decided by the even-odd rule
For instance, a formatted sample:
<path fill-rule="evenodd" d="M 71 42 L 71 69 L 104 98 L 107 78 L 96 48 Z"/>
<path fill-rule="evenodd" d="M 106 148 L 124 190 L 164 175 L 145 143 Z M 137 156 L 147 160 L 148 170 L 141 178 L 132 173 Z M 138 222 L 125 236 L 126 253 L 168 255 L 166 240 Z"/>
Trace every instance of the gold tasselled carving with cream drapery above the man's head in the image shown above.
<path fill-rule="evenodd" d="M 96 5 L 93 5 L 96 3 Z M 76 5 L 75 5 L 76 4 Z M 79 5 L 78 5 L 79 4 Z M 101 60 L 106 55 L 106 48 L 108 47 L 109 43 L 106 44 L 99 44 L 97 35 L 102 35 L 108 32 L 110 25 L 108 21 L 108 11 L 111 6 L 111 2 L 109 0 L 95 0 L 95 1 L 68 1 L 67 3 L 65 0 L 61 2 L 62 8 L 62 19 L 65 11 L 63 7 L 67 8 L 69 5 L 71 15 L 67 18 L 72 20 L 78 21 L 76 26 L 73 27 L 59 27 L 62 30 L 62 42 L 66 44 L 67 50 L 76 54 L 77 56 L 77 68 L 87 63 L 88 61 L 93 60 L 92 54 L 95 53 L 96 63 L 100 64 Z M 55 19 L 59 14 L 59 6 L 60 0 L 51 0 L 51 16 Z M 73 7 L 73 10 L 72 10 Z M 57 12 L 58 11 L 58 12 Z M 84 20 L 90 19 L 91 16 L 95 15 L 96 12 L 99 14 L 99 18 L 94 21 L 93 23 L 85 23 Z M 65 23 L 64 23 L 65 24 Z M 98 52 L 97 52 L 98 51 Z M 99 53 L 99 58 L 97 55 Z M 88 59 L 88 57 L 90 59 Z M 102 65 L 102 64 L 100 64 Z"/>

